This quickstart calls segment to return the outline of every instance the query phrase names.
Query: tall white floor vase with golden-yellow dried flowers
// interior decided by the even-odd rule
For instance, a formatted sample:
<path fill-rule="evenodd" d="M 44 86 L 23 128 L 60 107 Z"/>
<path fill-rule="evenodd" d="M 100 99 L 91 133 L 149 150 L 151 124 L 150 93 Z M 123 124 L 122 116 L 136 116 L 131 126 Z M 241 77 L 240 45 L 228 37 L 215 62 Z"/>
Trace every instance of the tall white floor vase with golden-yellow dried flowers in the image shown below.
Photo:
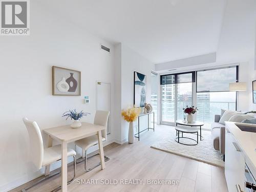
<path fill-rule="evenodd" d="M 139 114 L 141 113 L 140 108 L 128 108 L 127 110 L 123 110 L 121 115 L 124 120 L 129 122 L 129 133 L 128 133 L 128 142 L 134 143 L 134 124 L 133 122 L 137 119 Z"/>

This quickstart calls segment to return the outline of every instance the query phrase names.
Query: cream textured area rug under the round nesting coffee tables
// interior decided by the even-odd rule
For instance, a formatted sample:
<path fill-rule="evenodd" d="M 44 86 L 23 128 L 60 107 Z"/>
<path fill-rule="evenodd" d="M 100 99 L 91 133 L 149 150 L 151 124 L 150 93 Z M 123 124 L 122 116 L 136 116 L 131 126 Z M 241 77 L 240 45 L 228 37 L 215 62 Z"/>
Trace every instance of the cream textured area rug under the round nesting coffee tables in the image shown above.
<path fill-rule="evenodd" d="M 191 137 L 196 139 L 197 136 L 194 134 L 183 133 L 184 137 Z M 181 134 L 180 134 L 181 135 Z M 161 150 L 168 153 L 173 153 L 176 155 L 181 155 L 190 159 L 195 159 L 208 164 L 217 165 L 224 167 L 223 155 L 219 151 L 216 151 L 212 145 L 212 138 L 209 131 L 202 131 L 203 141 L 198 142 L 198 145 L 183 145 L 175 141 L 176 130 L 170 129 L 170 132 L 166 134 L 161 141 L 158 141 L 151 145 L 152 148 Z M 200 137 L 199 137 L 200 138 Z M 182 138 L 181 142 L 191 144 L 191 140 Z M 195 143 L 195 141 L 194 141 Z"/>

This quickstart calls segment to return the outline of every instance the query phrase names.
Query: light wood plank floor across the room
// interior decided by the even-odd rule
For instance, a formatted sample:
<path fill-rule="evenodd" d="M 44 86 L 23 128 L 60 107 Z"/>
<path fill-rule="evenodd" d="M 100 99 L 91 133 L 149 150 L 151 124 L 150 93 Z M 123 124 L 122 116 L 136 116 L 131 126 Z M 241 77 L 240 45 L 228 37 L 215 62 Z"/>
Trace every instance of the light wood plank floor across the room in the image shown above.
<path fill-rule="evenodd" d="M 106 192 L 131 192 L 131 191 L 176 191 L 176 192 L 226 192 L 227 186 L 224 169 L 199 161 L 191 160 L 182 156 L 162 152 L 151 148 L 151 144 L 161 140 L 162 135 L 167 133 L 172 126 L 156 125 L 155 133 L 146 131 L 141 135 L 140 141 L 133 144 L 119 145 L 112 143 L 104 147 L 105 155 L 110 157 L 106 162 L 106 168 L 100 170 L 100 166 L 91 172 L 84 172 L 84 162 L 77 164 L 76 181 L 68 185 L 69 191 L 106 191 Z M 89 160 L 92 163 L 99 162 L 99 157 Z M 72 163 L 68 167 L 69 177 L 72 177 Z M 144 184 L 78 184 L 80 179 L 102 179 L 101 181 L 112 182 L 122 179 L 143 179 Z M 88 180 L 89 179 L 89 180 Z M 179 185 L 148 185 L 147 179 L 179 180 Z M 96 180 L 95 180 L 96 182 Z M 100 182 L 100 181 L 99 181 Z M 50 191 L 60 183 L 60 175 L 42 182 L 28 191 Z M 12 191 L 20 191 L 27 184 L 17 187 Z"/>

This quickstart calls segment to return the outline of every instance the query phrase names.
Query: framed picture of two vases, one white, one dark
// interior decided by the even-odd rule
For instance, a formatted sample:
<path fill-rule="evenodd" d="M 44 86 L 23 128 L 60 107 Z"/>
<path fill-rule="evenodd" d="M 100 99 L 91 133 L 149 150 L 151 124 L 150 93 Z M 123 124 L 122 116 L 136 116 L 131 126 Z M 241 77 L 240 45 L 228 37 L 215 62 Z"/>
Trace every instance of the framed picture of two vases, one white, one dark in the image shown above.
<path fill-rule="evenodd" d="M 81 72 L 66 68 L 52 67 L 53 95 L 81 95 Z"/>

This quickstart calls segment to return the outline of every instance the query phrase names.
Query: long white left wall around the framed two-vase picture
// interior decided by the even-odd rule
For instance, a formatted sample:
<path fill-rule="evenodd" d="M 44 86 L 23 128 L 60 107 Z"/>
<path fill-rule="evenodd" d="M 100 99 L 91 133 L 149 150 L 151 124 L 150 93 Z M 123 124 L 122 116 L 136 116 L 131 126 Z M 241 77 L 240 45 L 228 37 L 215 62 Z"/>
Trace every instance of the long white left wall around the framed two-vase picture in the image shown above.
<path fill-rule="evenodd" d="M 90 112 L 82 120 L 92 122 L 96 80 L 114 84 L 114 52 L 102 51 L 100 43 L 112 51 L 114 46 L 51 14 L 34 0 L 30 34 L 0 36 L 0 191 L 40 174 L 34 173 L 29 163 L 29 138 L 23 117 L 36 120 L 45 129 L 71 123 L 61 115 L 77 109 Z M 52 96 L 52 66 L 81 71 L 81 96 Z M 83 104 L 85 95 L 90 96 L 90 104 Z M 113 134 L 108 139 L 112 140 Z"/>

